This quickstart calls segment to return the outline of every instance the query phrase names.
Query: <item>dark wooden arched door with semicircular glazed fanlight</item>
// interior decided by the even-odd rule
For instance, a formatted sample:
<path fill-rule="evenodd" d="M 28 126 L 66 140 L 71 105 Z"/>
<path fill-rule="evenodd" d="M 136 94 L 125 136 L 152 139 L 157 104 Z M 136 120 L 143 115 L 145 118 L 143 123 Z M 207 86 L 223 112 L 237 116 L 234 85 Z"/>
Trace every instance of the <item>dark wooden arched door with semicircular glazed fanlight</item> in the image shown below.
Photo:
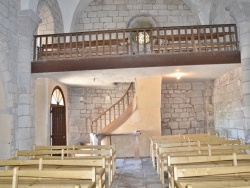
<path fill-rule="evenodd" d="M 65 100 L 60 87 L 56 86 L 51 95 L 51 145 L 66 145 Z"/>

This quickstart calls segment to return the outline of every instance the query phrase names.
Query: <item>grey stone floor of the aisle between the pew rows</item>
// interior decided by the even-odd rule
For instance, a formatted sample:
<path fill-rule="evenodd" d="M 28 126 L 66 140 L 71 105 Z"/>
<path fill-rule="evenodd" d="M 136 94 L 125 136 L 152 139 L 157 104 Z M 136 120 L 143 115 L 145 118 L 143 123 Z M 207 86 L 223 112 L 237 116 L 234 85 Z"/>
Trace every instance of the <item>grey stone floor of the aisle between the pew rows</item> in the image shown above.
<path fill-rule="evenodd" d="M 112 188 L 161 188 L 160 179 L 150 158 L 116 160 Z"/>

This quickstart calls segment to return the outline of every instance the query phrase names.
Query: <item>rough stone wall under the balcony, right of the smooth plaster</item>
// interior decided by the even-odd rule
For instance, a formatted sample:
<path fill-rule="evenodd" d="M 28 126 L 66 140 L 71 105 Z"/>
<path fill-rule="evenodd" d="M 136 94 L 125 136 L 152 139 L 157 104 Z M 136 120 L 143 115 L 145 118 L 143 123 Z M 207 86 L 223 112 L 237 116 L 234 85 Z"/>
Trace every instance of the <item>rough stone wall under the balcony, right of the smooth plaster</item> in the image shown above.
<path fill-rule="evenodd" d="M 213 132 L 212 81 L 162 85 L 162 134 Z"/>

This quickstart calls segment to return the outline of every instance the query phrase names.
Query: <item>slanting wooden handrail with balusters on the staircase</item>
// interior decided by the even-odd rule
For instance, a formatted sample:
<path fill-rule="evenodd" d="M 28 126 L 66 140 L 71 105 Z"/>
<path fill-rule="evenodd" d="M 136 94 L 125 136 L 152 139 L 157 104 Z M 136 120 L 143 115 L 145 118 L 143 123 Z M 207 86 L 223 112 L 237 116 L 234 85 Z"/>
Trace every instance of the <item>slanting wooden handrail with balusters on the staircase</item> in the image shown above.
<path fill-rule="evenodd" d="M 134 98 L 134 84 L 133 84 L 133 82 L 131 82 L 126 93 L 121 97 L 121 99 L 119 99 L 115 104 L 110 106 L 107 110 L 105 110 L 103 113 L 101 113 L 97 118 L 95 118 L 92 121 L 91 127 L 90 127 L 91 133 L 100 132 L 104 127 L 106 127 L 108 124 L 113 122 L 116 118 L 118 118 L 126 110 L 125 107 L 129 106 L 129 104 L 132 102 L 133 98 Z M 122 109 L 120 108 L 120 105 L 122 105 L 122 107 L 123 107 Z M 118 107 L 118 109 L 116 109 L 116 106 Z M 112 110 L 113 110 L 114 114 L 111 114 Z M 118 110 L 118 113 L 116 113 L 116 110 Z M 106 119 L 107 114 L 109 115 L 108 121 Z M 112 118 L 111 118 L 111 115 L 113 115 Z M 103 116 L 105 117 L 104 124 L 102 122 Z M 98 129 L 98 121 L 100 122 L 99 129 Z M 94 127 L 94 125 L 95 125 L 95 127 Z"/>

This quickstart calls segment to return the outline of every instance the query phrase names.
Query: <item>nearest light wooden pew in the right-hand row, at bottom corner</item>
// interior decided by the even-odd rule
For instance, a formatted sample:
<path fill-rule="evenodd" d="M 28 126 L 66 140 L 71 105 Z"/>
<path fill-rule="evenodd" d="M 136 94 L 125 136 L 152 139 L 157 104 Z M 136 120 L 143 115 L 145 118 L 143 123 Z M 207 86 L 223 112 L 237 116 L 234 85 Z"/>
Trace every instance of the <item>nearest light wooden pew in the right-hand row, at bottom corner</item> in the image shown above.
<path fill-rule="evenodd" d="M 250 166 L 174 167 L 176 188 L 250 187 Z"/>

